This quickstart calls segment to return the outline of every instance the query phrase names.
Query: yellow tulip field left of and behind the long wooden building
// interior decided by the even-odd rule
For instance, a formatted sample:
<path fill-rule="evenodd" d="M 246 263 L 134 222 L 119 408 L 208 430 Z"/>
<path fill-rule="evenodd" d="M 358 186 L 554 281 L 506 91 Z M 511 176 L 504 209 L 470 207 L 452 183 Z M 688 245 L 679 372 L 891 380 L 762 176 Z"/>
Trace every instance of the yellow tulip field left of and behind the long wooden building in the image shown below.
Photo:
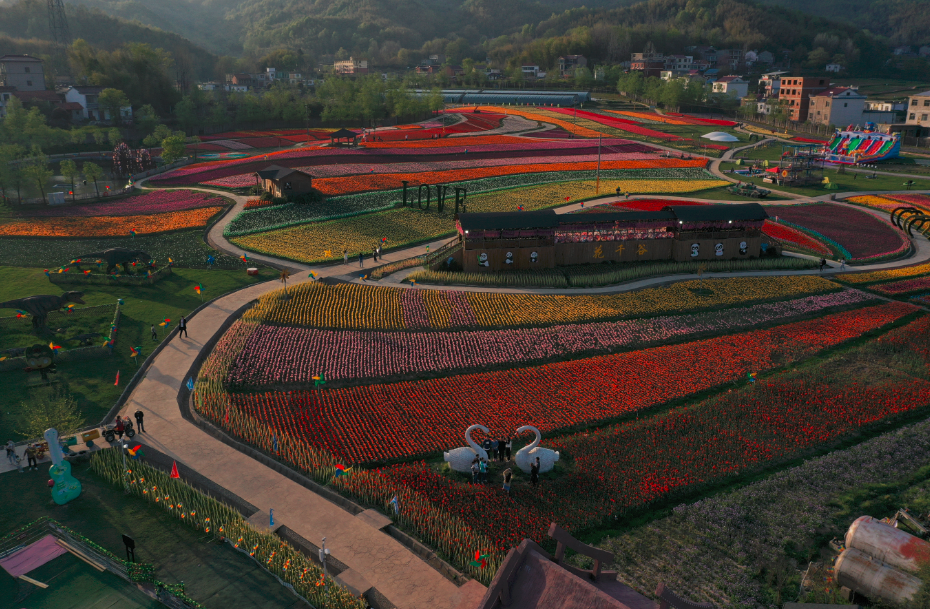
<path fill-rule="evenodd" d="M 547 209 L 592 199 L 598 194 L 611 195 L 618 188 L 620 192 L 631 194 L 670 194 L 706 190 L 724 184 L 726 182 L 716 179 L 601 180 L 598 188 L 594 180 L 556 182 L 471 195 L 468 197 L 468 211 L 516 211 L 521 205 L 526 211 Z M 454 207 L 448 206 L 442 214 L 435 210 L 421 211 L 416 208 L 392 209 L 245 235 L 230 241 L 249 251 L 298 262 L 339 260 L 343 249 L 348 249 L 350 255 L 355 257 L 359 252 L 370 253 L 382 237 L 387 239 L 385 248 L 397 248 L 450 235 L 455 230 L 453 216 Z"/>

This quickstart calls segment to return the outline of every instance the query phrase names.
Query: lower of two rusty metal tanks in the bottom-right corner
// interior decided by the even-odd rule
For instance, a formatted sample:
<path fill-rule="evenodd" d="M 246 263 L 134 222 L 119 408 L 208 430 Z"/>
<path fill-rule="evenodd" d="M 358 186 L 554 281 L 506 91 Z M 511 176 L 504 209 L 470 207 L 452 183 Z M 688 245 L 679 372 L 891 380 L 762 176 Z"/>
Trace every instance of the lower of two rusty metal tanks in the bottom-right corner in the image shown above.
<path fill-rule="evenodd" d="M 855 549 L 846 549 L 840 554 L 834 571 L 840 586 L 873 600 L 881 598 L 897 604 L 913 598 L 923 584 L 913 575 Z"/>

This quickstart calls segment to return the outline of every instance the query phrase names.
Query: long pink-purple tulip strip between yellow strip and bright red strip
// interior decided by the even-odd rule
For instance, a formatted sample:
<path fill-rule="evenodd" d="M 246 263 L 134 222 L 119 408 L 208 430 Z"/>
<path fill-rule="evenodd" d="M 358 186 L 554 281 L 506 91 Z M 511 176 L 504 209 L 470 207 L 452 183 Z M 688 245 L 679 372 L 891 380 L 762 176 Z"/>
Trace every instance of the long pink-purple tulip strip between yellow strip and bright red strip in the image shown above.
<path fill-rule="evenodd" d="M 407 294 L 416 292 L 407 290 Z M 245 386 L 304 383 L 320 372 L 331 380 L 383 381 L 404 375 L 523 365 L 591 351 L 690 340 L 702 333 L 734 332 L 872 298 L 846 290 L 693 315 L 478 332 L 355 332 L 259 325 L 239 343 L 244 347 L 226 381 Z M 404 298 L 402 306 L 408 327 L 428 327 L 422 299 Z"/>

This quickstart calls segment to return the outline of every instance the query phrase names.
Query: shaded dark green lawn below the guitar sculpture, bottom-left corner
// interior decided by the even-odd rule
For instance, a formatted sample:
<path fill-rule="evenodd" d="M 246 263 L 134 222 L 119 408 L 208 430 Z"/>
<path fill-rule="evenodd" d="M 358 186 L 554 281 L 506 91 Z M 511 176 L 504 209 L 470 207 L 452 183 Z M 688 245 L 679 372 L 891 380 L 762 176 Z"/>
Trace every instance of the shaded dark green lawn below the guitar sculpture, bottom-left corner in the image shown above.
<path fill-rule="evenodd" d="M 0 475 L 0 495 L 4 509 L 0 535 L 15 530 L 40 516 L 48 516 L 123 556 L 122 535 L 136 541 L 136 559 L 155 565 L 155 576 L 169 584 L 185 584 L 185 594 L 210 609 L 255 607 L 286 609 L 306 607 L 277 580 L 248 556 L 226 544 L 199 535 L 177 519 L 127 496 L 90 471 L 86 463 L 74 465 L 74 475 L 83 492 L 64 506 L 51 500 L 45 481 L 47 472 L 9 472 Z M 55 567 L 64 568 L 58 572 Z M 29 574 L 50 584 L 48 590 L 34 592 L 27 600 L 13 604 L 22 585 L 0 570 L 0 607 L 30 609 L 89 609 L 91 607 L 161 607 L 135 592 L 122 580 L 96 570 L 70 555 L 56 559 Z M 133 591 L 133 594 L 129 594 Z M 117 601 L 116 604 L 101 602 Z M 95 602 L 97 601 L 97 602 Z M 124 604 L 125 603 L 125 604 Z"/>

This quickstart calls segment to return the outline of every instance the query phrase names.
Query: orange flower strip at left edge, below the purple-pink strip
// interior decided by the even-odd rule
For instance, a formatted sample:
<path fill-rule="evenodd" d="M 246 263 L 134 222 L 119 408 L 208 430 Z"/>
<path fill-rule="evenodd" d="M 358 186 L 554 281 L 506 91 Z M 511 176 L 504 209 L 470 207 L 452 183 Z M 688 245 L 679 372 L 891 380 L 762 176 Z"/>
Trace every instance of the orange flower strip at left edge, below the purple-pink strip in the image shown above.
<path fill-rule="evenodd" d="M 89 216 L 31 218 L 29 221 L 0 224 L 0 235 L 17 237 L 124 237 L 164 233 L 207 225 L 222 207 L 201 207 L 151 216 Z"/>

